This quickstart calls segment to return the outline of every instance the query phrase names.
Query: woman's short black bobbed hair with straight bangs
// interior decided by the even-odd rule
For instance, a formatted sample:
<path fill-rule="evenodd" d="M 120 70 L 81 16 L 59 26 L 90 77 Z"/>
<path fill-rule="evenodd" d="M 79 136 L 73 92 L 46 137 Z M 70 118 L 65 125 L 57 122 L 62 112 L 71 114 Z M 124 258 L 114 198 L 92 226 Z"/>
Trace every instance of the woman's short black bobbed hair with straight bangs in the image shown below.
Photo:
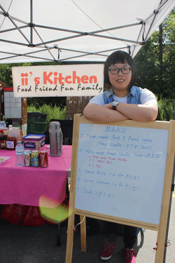
<path fill-rule="evenodd" d="M 129 88 L 132 88 L 137 78 L 136 64 L 132 59 L 132 57 L 123 50 L 117 50 L 113 52 L 111 55 L 109 55 L 106 62 L 104 63 L 104 83 L 108 84 L 107 87 L 111 85 L 109 81 L 109 67 L 111 65 L 115 65 L 116 63 L 122 63 L 122 64 L 127 63 L 132 68 L 132 79 L 130 81 L 130 86 L 129 86 Z"/>

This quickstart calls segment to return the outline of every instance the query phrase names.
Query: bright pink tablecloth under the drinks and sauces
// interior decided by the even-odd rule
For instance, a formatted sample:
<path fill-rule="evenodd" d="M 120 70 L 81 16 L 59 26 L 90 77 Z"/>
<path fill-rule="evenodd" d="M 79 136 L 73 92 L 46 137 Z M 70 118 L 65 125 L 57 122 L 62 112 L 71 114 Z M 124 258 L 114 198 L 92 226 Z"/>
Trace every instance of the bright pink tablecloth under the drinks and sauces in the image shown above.
<path fill-rule="evenodd" d="M 46 146 L 42 148 L 45 150 Z M 15 166 L 15 151 L 0 150 L 0 156 L 9 156 L 0 165 L 0 203 L 20 203 L 38 206 L 39 198 L 47 196 L 62 202 L 66 197 L 67 171 L 71 166 L 71 145 L 63 145 L 62 156 L 51 157 L 48 168 Z"/>

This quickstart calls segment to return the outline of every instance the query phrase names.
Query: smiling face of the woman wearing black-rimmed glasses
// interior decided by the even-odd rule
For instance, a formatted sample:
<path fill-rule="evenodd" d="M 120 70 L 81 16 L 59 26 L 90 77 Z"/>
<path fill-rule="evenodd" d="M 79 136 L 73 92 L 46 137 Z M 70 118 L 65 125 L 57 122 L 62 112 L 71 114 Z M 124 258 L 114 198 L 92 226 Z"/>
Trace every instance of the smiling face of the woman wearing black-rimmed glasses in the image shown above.
<path fill-rule="evenodd" d="M 126 97 L 129 93 L 129 86 L 130 81 L 132 79 L 132 70 L 127 70 L 128 68 L 131 69 L 130 65 L 127 63 L 116 63 L 115 65 L 111 65 L 109 69 L 123 69 L 123 72 L 120 70 L 118 74 L 111 74 L 109 71 L 109 81 L 111 86 L 113 87 L 113 93 L 118 97 Z M 130 72 L 129 72 L 130 71 Z M 129 72 L 128 74 L 124 74 L 125 72 Z M 115 70 L 114 70 L 115 73 Z"/>

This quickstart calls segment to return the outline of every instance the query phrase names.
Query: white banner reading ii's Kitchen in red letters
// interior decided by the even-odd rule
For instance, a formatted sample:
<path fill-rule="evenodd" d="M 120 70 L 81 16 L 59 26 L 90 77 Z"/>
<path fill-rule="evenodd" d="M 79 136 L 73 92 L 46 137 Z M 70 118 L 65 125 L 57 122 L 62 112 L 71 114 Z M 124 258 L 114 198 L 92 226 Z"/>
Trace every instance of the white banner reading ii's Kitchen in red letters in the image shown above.
<path fill-rule="evenodd" d="M 15 97 L 95 96 L 104 90 L 104 65 L 12 67 Z"/>

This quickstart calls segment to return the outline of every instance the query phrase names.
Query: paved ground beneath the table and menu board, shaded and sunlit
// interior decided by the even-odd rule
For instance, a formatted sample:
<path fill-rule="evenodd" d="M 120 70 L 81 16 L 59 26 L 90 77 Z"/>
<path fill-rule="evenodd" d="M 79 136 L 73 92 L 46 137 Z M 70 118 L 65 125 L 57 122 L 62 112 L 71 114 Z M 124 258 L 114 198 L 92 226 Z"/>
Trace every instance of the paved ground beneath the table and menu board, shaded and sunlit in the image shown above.
<path fill-rule="evenodd" d="M 56 245 L 57 226 L 45 224 L 42 227 L 22 227 L 0 222 L 0 263 L 64 263 L 66 255 L 66 222 L 62 224 L 62 245 Z M 104 243 L 104 234 L 98 234 L 90 224 L 87 231 L 87 252 L 80 250 L 80 231 L 73 241 L 72 263 L 97 263 L 102 260 L 99 253 Z M 169 242 L 166 263 L 175 263 L 175 194 L 169 225 Z M 137 263 L 155 262 L 157 232 L 144 229 L 138 236 Z M 118 235 L 118 246 L 108 263 L 123 263 L 123 236 Z"/>

